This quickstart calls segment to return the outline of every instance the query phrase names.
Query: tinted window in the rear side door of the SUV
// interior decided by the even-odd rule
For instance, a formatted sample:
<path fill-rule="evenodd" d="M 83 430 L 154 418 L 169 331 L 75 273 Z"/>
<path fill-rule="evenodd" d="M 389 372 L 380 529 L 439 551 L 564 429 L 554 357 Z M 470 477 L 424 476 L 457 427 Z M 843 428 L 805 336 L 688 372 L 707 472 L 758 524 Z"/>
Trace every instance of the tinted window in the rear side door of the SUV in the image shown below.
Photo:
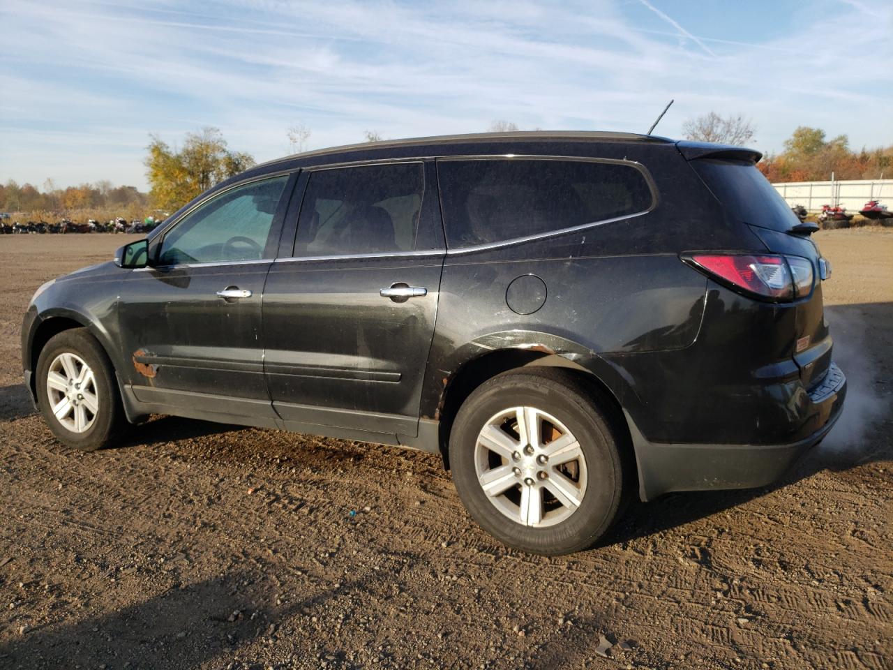
<path fill-rule="evenodd" d="M 312 172 L 297 222 L 296 255 L 412 251 L 422 170 L 422 163 L 388 163 Z"/>

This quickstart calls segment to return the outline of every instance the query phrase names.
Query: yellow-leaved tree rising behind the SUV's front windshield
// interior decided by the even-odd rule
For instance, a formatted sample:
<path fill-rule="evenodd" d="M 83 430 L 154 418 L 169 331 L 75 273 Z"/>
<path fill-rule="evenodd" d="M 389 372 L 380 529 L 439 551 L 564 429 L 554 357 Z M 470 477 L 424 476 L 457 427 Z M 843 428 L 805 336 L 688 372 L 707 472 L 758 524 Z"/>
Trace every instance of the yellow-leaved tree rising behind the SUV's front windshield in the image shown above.
<path fill-rule="evenodd" d="M 154 205 L 160 209 L 179 209 L 208 188 L 255 164 L 252 155 L 230 151 L 216 128 L 188 133 L 180 151 L 171 149 L 156 135 L 150 137 L 146 176 Z"/>

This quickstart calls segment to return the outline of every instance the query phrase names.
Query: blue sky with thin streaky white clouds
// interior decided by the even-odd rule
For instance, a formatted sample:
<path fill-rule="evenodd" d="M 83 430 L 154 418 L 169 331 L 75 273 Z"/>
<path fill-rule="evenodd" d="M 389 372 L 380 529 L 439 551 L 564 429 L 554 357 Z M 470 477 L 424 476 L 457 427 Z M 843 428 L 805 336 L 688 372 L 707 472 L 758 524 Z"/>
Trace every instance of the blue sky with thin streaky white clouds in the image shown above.
<path fill-rule="evenodd" d="M 150 134 L 219 128 L 258 162 L 488 130 L 645 132 L 742 113 L 893 144 L 890 0 L 0 0 L 0 182 L 147 188 Z"/>

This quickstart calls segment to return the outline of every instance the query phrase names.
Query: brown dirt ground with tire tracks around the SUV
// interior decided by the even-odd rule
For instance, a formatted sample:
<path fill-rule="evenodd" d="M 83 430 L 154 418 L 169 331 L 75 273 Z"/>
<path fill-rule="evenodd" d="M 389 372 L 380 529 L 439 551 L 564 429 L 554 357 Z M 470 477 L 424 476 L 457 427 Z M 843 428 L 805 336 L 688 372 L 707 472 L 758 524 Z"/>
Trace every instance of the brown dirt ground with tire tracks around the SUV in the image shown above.
<path fill-rule="evenodd" d="M 126 238 L 0 238 L 0 667 L 893 667 L 893 230 L 816 238 L 850 380 L 829 440 L 561 558 L 491 540 L 427 454 L 170 417 L 61 447 L 21 314 Z"/>

